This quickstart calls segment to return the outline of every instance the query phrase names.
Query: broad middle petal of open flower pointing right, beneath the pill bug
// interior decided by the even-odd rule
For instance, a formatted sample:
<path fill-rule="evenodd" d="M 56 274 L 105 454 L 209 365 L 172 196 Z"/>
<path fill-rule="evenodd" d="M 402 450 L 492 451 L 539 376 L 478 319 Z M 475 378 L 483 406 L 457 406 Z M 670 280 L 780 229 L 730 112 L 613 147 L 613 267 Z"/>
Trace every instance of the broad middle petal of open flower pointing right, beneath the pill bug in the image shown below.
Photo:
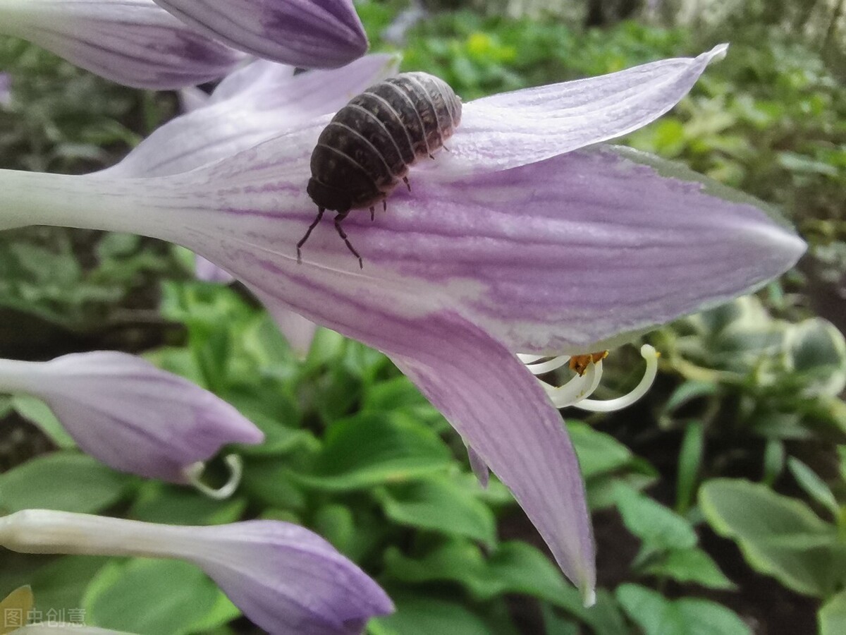
<path fill-rule="evenodd" d="M 329 223 L 299 266 L 320 128 L 116 194 L 145 211 L 102 227 L 129 229 L 131 220 L 342 332 L 358 314 L 339 314 L 327 298 L 361 296 L 398 316 L 450 306 L 512 351 L 556 354 L 603 350 L 620 334 L 748 293 L 805 251 L 752 199 L 604 146 L 453 183 L 415 177 L 414 191 L 394 191 L 376 222 L 367 213 L 344 222 L 363 271 Z"/>

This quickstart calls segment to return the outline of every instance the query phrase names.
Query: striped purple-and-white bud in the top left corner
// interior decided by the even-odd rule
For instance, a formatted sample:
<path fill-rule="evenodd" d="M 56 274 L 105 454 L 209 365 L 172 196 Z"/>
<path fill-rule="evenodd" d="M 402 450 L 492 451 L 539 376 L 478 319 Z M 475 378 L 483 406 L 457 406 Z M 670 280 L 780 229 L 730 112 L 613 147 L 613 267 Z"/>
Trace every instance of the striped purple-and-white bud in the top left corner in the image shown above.
<path fill-rule="evenodd" d="M 226 75 L 244 58 L 152 0 L 5 0 L 0 31 L 136 88 L 201 84 Z"/>

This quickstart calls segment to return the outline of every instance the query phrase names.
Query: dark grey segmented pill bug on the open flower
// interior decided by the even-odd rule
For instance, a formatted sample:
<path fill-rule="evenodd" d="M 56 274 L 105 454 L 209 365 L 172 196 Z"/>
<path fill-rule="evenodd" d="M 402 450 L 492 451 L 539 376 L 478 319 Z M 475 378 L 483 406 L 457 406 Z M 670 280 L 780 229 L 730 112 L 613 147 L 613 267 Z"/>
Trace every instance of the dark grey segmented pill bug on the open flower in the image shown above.
<path fill-rule="evenodd" d="M 461 120 L 461 100 L 449 85 L 428 73 L 401 73 L 371 86 L 341 108 L 317 139 L 311 153 L 311 178 L 306 189 L 317 205 L 317 217 L 297 243 L 300 248 L 323 213 L 337 212 L 335 229 L 349 251 L 341 222 L 351 209 L 376 203 L 387 209 L 387 196 L 404 181 L 411 191 L 409 166 L 434 157 Z"/>

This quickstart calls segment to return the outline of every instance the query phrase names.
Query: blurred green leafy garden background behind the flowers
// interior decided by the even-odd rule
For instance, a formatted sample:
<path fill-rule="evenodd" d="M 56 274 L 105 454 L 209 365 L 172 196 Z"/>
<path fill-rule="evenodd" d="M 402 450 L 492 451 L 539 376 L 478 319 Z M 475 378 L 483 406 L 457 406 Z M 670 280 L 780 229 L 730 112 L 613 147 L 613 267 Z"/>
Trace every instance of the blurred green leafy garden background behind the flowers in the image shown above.
<path fill-rule="evenodd" d="M 650 334 L 661 372 L 636 406 L 563 412 L 596 527 L 596 607 L 581 607 L 508 491 L 475 483 L 463 444 L 385 357 L 320 330 L 299 360 L 237 284 L 197 282 L 184 251 L 130 235 L 3 232 L 0 356 L 143 352 L 267 441 L 237 449 L 244 482 L 213 501 L 113 472 L 47 406 L 0 396 L 0 508 L 300 522 L 395 599 L 372 635 L 846 632 L 844 3 L 425 4 L 405 29 L 409 3 L 357 8 L 374 50 L 401 50 L 404 69 L 464 99 L 731 41 L 689 97 L 624 143 L 775 204 L 810 243 L 759 295 Z M 114 86 L 22 41 L 0 39 L 0 69 L 14 86 L 3 168 L 105 167 L 179 109 L 173 94 Z M 637 382 L 636 348 L 605 363 L 600 396 Z M 130 632 L 256 632 L 184 563 L 0 554 L 0 593 L 22 583 L 45 618 L 82 609 Z"/>

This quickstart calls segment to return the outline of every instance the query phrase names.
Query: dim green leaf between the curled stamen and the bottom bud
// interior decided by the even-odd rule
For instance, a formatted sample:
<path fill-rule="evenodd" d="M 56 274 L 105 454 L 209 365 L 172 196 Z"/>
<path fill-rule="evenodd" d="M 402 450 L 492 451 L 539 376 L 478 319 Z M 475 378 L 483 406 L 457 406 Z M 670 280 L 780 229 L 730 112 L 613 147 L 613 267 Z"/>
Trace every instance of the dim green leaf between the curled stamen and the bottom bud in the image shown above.
<path fill-rule="evenodd" d="M 169 483 L 146 483 L 128 517 L 170 525 L 218 525 L 237 521 L 247 501 L 243 498 L 214 500 L 195 489 Z"/>

